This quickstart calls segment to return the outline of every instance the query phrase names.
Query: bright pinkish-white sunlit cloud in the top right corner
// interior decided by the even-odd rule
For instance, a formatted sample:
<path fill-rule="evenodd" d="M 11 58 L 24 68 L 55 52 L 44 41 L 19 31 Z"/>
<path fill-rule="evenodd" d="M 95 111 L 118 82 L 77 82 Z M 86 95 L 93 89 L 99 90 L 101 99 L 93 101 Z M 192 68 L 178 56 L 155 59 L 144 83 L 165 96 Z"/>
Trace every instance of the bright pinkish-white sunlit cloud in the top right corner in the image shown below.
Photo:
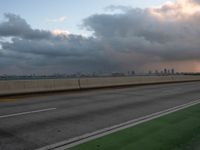
<path fill-rule="evenodd" d="M 188 19 L 200 13 L 200 4 L 195 0 L 168 1 L 162 6 L 148 9 L 151 15 L 168 21 Z"/>

